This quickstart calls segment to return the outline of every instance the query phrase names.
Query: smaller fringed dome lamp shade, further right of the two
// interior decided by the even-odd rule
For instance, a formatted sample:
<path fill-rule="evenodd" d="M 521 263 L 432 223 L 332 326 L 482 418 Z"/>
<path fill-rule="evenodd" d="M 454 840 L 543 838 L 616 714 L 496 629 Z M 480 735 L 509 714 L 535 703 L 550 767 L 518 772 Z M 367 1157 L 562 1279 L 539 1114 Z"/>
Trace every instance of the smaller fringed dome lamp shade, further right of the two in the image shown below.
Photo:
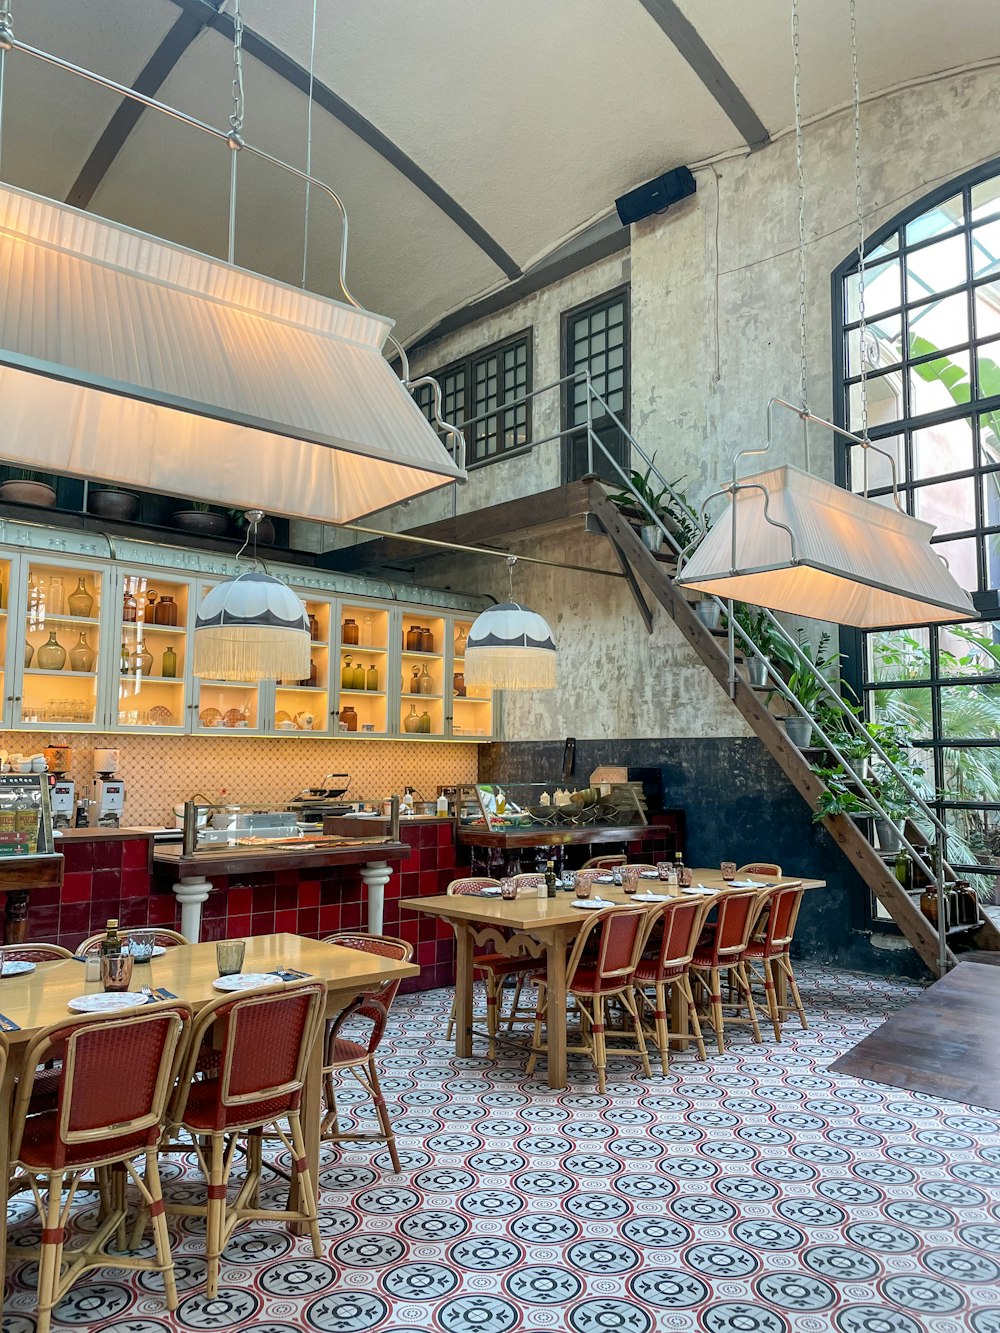
<path fill-rule="evenodd" d="M 555 689 L 556 645 L 548 624 L 515 601 L 484 611 L 465 644 L 465 684 Z"/>

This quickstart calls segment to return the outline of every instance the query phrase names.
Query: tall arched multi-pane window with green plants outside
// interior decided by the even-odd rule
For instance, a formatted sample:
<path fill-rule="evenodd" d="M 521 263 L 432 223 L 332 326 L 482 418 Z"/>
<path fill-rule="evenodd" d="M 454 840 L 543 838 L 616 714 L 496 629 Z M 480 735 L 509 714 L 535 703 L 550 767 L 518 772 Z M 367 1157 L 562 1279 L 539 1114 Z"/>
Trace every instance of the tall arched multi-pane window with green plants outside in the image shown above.
<path fill-rule="evenodd" d="M 975 624 L 872 632 L 849 657 L 869 717 L 900 724 L 949 829 L 948 854 L 977 892 L 1000 885 L 1000 160 L 935 191 L 833 273 L 837 424 L 868 428 L 896 461 L 903 507 L 975 599 Z M 837 480 L 865 485 L 843 443 Z M 868 493 L 892 504 L 869 455 Z"/>

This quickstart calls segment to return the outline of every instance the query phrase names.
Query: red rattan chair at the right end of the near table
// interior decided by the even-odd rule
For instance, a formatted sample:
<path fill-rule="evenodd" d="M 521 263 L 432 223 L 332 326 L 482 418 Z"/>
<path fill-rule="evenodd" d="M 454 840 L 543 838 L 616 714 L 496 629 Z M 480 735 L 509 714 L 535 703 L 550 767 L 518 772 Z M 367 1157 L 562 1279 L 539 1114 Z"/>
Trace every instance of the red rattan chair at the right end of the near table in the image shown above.
<path fill-rule="evenodd" d="M 409 962 L 413 957 L 413 945 L 405 940 L 397 940 L 391 934 L 359 934 L 343 930 L 337 934 L 328 934 L 325 944 L 339 944 L 341 949 L 359 949 L 363 953 L 376 953 L 381 958 L 395 958 L 397 962 Z M 400 988 L 399 980 L 384 981 L 372 990 L 365 990 L 357 996 L 347 1009 L 341 1010 L 332 1022 L 327 1024 L 327 1037 L 323 1053 L 323 1096 L 327 1104 L 323 1117 L 321 1136 L 329 1142 L 344 1144 L 357 1140 L 372 1140 L 384 1142 L 389 1149 L 392 1169 L 400 1173 L 399 1152 L 396 1150 L 396 1134 L 392 1130 L 392 1121 L 385 1108 L 385 1098 L 379 1085 L 379 1072 L 375 1068 L 375 1052 L 385 1033 L 385 1024 L 389 1018 L 389 1009 Z M 353 1018 L 364 1018 L 371 1022 L 372 1029 L 368 1041 L 355 1041 L 341 1036 L 341 1028 Z M 333 1090 L 333 1073 L 349 1072 L 364 1088 L 375 1104 L 375 1113 L 379 1117 L 379 1133 L 357 1132 L 343 1134 L 337 1122 L 337 1101 Z"/>

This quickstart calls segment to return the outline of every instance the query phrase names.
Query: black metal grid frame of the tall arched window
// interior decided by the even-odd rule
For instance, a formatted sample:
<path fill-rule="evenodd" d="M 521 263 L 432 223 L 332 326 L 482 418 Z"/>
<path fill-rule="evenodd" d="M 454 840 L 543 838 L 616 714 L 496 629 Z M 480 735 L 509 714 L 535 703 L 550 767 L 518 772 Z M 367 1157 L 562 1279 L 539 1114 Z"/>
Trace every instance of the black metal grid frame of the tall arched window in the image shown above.
<path fill-rule="evenodd" d="M 975 232 L 977 227 L 984 225 L 987 221 L 996 221 L 1000 219 L 1000 197 L 996 201 L 996 209 L 988 213 L 985 217 L 979 219 L 975 224 L 972 220 L 971 208 L 971 195 L 976 185 L 980 185 L 989 180 L 1000 180 L 1000 157 L 995 157 L 991 161 L 983 163 L 979 167 L 963 172 L 961 175 L 945 181 L 944 184 L 936 187 L 929 193 L 908 204 L 907 208 L 901 209 L 893 217 L 891 217 L 883 227 L 877 228 L 865 243 L 865 267 L 875 265 L 883 260 L 899 259 L 900 261 L 900 292 L 897 305 L 892 308 L 893 313 L 899 309 L 901 319 L 901 359 L 897 365 L 893 365 L 887 373 L 899 373 L 903 381 L 903 397 L 901 397 L 901 415 L 889 423 L 880 424 L 871 428 L 869 437 L 872 441 L 879 440 L 900 440 L 903 444 L 901 453 L 901 477 L 900 477 L 900 503 L 908 512 L 915 511 L 915 499 L 917 497 L 921 487 L 924 485 L 937 485 L 941 483 L 955 481 L 955 480 L 968 480 L 969 485 L 975 491 L 975 527 L 969 529 L 947 532 L 940 537 L 940 543 L 957 541 L 963 539 L 973 539 L 976 541 L 976 583 L 977 588 L 972 592 L 972 600 L 977 611 L 979 623 L 984 627 L 989 625 L 993 628 L 995 641 L 1000 641 L 1000 593 L 996 587 L 991 587 L 991 579 L 997 580 L 996 572 L 991 572 L 991 563 L 988 560 L 987 545 L 992 540 L 997 543 L 1000 540 L 1000 527 L 993 521 L 989 521 L 989 516 L 985 509 L 984 501 L 984 485 L 985 477 L 997 477 L 1000 481 L 1000 464 L 991 464 L 984 461 L 985 452 L 981 449 L 981 420 L 991 412 L 1000 412 L 1000 395 L 993 395 L 992 397 L 979 396 L 979 357 L 981 355 L 989 356 L 991 352 L 1000 352 L 1000 339 L 996 335 L 992 336 L 977 336 L 979 331 L 976 327 L 976 303 L 975 292 L 976 288 L 984 285 L 988 281 L 996 283 L 1000 279 L 1000 269 L 996 272 L 984 272 L 976 276 L 975 267 L 972 264 L 972 256 L 975 249 Z M 961 223 L 956 224 L 948 231 L 933 233 L 931 236 L 909 240 L 907 237 L 907 227 L 915 220 L 920 219 L 923 215 L 932 212 L 935 208 L 940 207 L 945 201 L 951 200 L 953 196 L 961 195 L 963 209 L 961 209 Z M 875 256 L 876 251 L 880 251 L 887 243 L 889 243 L 895 236 L 895 248 L 891 248 L 884 255 Z M 965 248 L 965 279 L 963 283 L 955 287 L 943 287 L 940 292 L 933 292 L 931 296 L 909 296 L 907 292 L 907 256 L 909 253 L 919 252 L 931 245 L 935 245 L 943 240 L 952 237 L 961 237 Z M 857 319 L 848 319 L 848 299 L 847 299 L 847 280 L 857 273 L 857 251 L 848 255 L 832 272 L 831 275 L 831 316 L 832 316 L 832 389 L 833 389 L 833 423 L 845 429 L 851 429 L 851 387 L 857 384 L 859 375 L 848 375 L 848 340 L 852 331 L 859 327 Z M 932 355 L 924 356 L 923 360 L 935 360 L 936 357 L 949 356 L 953 352 L 964 353 L 968 356 L 969 363 L 969 384 L 971 396 L 968 403 L 953 405 L 947 405 L 940 409 L 924 413 L 912 413 L 911 407 L 911 388 L 909 388 L 909 375 L 915 364 L 920 364 L 921 357 L 911 355 L 909 333 L 911 333 L 911 312 L 920 311 L 921 304 L 928 305 L 936 300 L 944 300 L 948 296 L 964 293 L 968 300 L 968 337 L 963 344 L 956 344 L 953 348 L 937 348 Z M 877 317 L 877 316 L 876 316 Z M 872 323 L 872 315 L 868 313 L 868 323 Z M 996 359 L 996 357 L 993 357 Z M 871 383 L 871 380 L 869 380 Z M 945 425 L 952 421 L 968 421 L 971 429 L 971 457 L 972 464 L 969 467 L 963 467 L 959 471 L 951 471 L 947 473 L 933 475 L 929 477 L 920 477 L 915 467 L 915 447 L 913 435 L 919 431 L 927 429 L 929 427 Z M 856 427 L 855 427 L 856 428 Z M 851 488 L 851 441 L 844 439 L 837 439 L 835 449 L 835 480 L 837 485 L 844 488 Z M 899 451 L 896 451 L 899 457 Z M 872 487 L 869 495 L 885 495 L 891 492 L 891 487 Z M 933 544 L 939 543 L 939 539 L 932 539 Z M 972 623 L 976 625 L 977 623 Z M 893 692 L 907 692 L 907 690 L 927 690 L 929 702 L 929 720 L 931 728 L 929 733 L 925 736 L 912 736 L 913 748 L 923 750 L 929 756 L 932 770 L 928 770 L 928 781 L 933 785 L 935 798 L 928 800 L 928 804 L 935 810 L 943 822 L 949 822 L 949 814 L 953 812 L 961 812 L 968 809 L 979 809 L 983 812 L 989 812 L 996 816 L 996 822 L 1000 824 L 1000 800 L 997 801 L 975 801 L 969 802 L 956 797 L 948 797 L 948 793 L 943 790 L 944 776 L 945 776 L 945 757 L 948 750 L 973 750 L 981 748 L 991 748 L 1000 753 L 1000 737 L 996 736 L 948 736 L 948 718 L 945 716 L 947 710 L 943 708 L 943 702 L 949 701 L 949 696 L 943 692 L 955 688 L 976 688 L 976 686 L 993 686 L 1000 684 L 1000 666 L 996 673 L 981 673 L 981 674 L 948 674 L 944 670 L 944 663 L 941 659 L 941 644 L 940 637 L 943 632 L 947 632 L 948 627 L 917 627 L 911 633 L 924 635 L 928 637 L 928 669 L 925 676 L 907 677 L 899 681 L 892 681 L 889 678 L 876 680 L 875 673 L 869 674 L 868 663 L 868 637 L 869 635 L 877 635 L 877 631 L 859 631 L 851 627 L 841 627 L 840 629 L 840 648 L 844 653 L 844 663 L 841 676 L 851 690 L 853 690 L 855 697 L 861 700 L 864 704 L 865 716 L 872 716 L 873 701 L 876 690 L 893 690 Z M 903 694 L 905 698 L 905 693 Z M 953 762 L 953 761 L 952 761 Z M 980 861 L 972 864 L 968 860 L 961 860 L 949 856 L 951 864 L 955 870 L 960 874 L 969 876 L 995 876 L 1000 882 L 1000 850 L 993 850 L 992 856 L 987 861 Z M 973 880 L 973 882 L 976 882 Z M 879 929 L 889 928 L 892 929 L 892 922 L 887 922 L 883 917 L 876 916 L 875 902 L 869 896 L 867 904 L 867 917 L 868 925 L 875 925 Z"/>

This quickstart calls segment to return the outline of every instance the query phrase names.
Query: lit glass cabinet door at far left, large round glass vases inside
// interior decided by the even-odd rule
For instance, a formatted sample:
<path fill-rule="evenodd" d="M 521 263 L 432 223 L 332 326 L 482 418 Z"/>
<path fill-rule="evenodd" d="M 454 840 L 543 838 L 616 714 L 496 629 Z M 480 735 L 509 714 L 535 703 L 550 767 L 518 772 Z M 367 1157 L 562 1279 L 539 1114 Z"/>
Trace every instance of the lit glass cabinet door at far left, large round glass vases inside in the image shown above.
<path fill-rule="evenodd" d="M 23 726 L 92 728 L 99 717 L 104 571 L 31 557 L 25 561 L 24 633 L 8 652 L 24 653 Z M 8 664 L 9 665 L 9 664 Z"/>

